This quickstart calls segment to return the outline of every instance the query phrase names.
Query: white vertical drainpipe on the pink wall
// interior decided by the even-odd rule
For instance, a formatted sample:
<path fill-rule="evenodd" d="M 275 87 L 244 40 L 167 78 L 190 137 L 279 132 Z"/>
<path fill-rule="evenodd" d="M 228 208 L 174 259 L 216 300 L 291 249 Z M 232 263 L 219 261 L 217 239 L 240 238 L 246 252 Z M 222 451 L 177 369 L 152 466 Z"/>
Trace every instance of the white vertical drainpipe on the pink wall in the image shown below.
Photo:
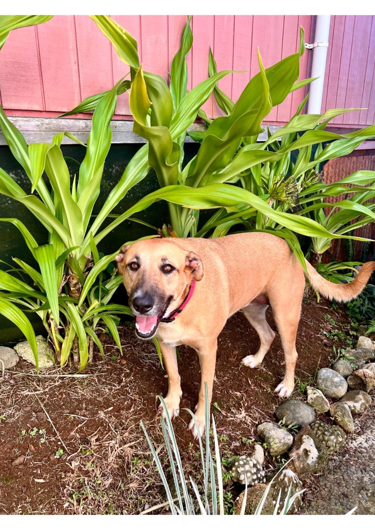
<path fill-rule="evenodd" d="M 307 107 L 308 114 L 320 114 L 323 97 L 324 76 L 329 38 L 330 15 L 317 15 L 314 43 L 312 45 L 311 76 L 318 77 L 310 84 L 310 95 Z M 311 46 L 311 45 L 310 45 Z"/>

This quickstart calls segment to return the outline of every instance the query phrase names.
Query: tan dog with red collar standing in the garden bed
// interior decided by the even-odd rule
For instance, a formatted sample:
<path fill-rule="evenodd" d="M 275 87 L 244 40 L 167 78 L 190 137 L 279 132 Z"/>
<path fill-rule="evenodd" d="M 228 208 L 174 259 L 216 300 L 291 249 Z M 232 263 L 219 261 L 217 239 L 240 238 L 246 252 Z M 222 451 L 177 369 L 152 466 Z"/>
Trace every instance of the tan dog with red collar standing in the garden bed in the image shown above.
<path fill-rule="evenodd" d="M 171 418 L 178 415 L 182 395 L 176 346 L 185 344 L 198 353 L 202 382 L 196 418 L 203 434 L 204 382 L 211 403 L 217 337 L 226 320 L 242 310 L 260 338 L 257 353 L 248 355 L 242 363 L 256 367 L 275 337 L 266 321 L 268 304 L 285 354 L 284 379 L 275 392 L 281 398 L 291 395 L 298 357 L 295 338 L 305 280 L 301 264 L 283 239 L 265 233 L 234 234 L 217 239 L 155 238 L 125 246 L 116 260 L 130 307 L 136 315 L 138 337 L 150 339 L 156 335 L 160 341 L 168 373 L 165 403 Z M 350 284 L 337 285 L 306 264 L 311 285 L 339 302 L 357 296 L 375 269 L 375 262 L 365 263 Z M 187 296 L 191 299 L 176 316 L 173 310 L 186 303 Z M 175 316 L 172 322 L 161 320 L 172 314 Z M 196 437 L 193 421 L 189 429 Z"/>

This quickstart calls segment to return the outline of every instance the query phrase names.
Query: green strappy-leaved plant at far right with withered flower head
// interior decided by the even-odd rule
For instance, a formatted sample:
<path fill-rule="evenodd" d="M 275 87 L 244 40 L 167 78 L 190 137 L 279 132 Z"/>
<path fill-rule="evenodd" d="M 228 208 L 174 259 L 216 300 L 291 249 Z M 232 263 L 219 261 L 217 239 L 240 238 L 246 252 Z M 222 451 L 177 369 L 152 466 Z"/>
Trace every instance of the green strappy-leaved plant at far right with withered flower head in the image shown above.
<path fill-rule="evenodd" d="M 208 74 L 216 74 L 216 63 L 210 50 Z M 234 103 L 216 85 L 214 96 L 226 114 L 233 111 Z M 344 235 L 355 228 L 367 225 L 375 219 L 375 172 L 356 171 L 337 182 L 327 184 L 322 179 L 321 164 L 344 156 L 359 146 L 363 140 L 375 135 L 375 126 L 338 135 L 325 128 L 336 116 L 355 109 L 333 109 L 324 114 L 303 114 L 308 95 L 299 105 L 292 119 L 274 134 L 269 133 L 263 143 L 256 138 L 243 138 L 240 148 L 229 164 L 213 175 L 208 175 L 204 184 L 212 182 L 239 183 L 268 202 L 275 211 L 293 211 L 295 214 L 315 220 L 329 232 Z M 207 120 L 206 120 L 207 121 Z M 202 131 L 188 133 L 202 142 Z M 322 144 L 328 143 L 323 148 Z M 295 162 L 292 162 L 292 152 Z M 313 154 L 312 154 L 313 153 Z M 345 194 L 345 198 L 334 204 L 328 197 Z M 329 208 L 329 213 L 325 209 Z M 275 230 L 282 235 L 285 228 L 255 208 L 245 206 L 238 213 L 221 209 L 200 229 L 198 235 L 214 231 L 211 236 L 226 234 L 234 225 L 242 224 L 247 229 Z M 281 230 L 281 232 L 280 232 Z M 312 262 L 320 262 L 321 254 L 329 249 L 332 237 L 316 237 L 311 234 L 308 253 Z"/>

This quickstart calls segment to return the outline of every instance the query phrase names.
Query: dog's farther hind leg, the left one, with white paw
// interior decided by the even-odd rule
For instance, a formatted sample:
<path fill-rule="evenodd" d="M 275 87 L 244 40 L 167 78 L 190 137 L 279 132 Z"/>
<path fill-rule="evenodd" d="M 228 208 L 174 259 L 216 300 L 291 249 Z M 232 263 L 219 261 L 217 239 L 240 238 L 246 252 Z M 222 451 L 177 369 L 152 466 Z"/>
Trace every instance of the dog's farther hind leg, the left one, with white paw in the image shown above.
<path fill-rule="evenodd" d="M 264 356 L 275 338 L 275 333 L 266 321 L 267 307 L 268 304 L 249 304 L 242 307 L 243 314 L 252 327 L 255 328 L 260 339 L 260 347 L 257 353 L 255 355 L 248 355 L 242 359 L 242 363 L 250 368 L 255 368 L 263 361 Z"/>

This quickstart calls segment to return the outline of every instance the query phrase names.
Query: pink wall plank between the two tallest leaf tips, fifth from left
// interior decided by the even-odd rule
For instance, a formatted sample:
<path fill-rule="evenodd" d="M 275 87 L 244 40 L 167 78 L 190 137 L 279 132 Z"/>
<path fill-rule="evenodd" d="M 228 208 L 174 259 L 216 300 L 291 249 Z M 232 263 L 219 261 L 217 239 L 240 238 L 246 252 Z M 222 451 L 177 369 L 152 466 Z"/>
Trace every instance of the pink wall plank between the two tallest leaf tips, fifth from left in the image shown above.
<path fill-rule="evenodd" d="M 141 39 L 144 70 L 168 81 L 168 16 L 141 15 Z"/>

